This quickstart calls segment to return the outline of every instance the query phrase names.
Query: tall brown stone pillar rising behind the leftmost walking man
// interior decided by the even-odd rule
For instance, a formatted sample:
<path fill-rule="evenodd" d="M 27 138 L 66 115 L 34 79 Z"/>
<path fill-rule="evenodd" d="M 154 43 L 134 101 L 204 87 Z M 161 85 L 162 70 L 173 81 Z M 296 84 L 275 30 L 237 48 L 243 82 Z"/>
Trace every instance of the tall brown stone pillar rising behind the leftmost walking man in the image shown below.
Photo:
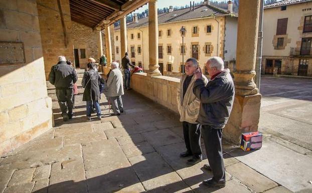
<path fill-rule="evenodd" d="M 57 0 L 37 0 L 46 78 L 51 67 L 57 63 L 58 56 L 74 59 L 69 0 L 60 1 L 64 28 L 57 2 Z"/>

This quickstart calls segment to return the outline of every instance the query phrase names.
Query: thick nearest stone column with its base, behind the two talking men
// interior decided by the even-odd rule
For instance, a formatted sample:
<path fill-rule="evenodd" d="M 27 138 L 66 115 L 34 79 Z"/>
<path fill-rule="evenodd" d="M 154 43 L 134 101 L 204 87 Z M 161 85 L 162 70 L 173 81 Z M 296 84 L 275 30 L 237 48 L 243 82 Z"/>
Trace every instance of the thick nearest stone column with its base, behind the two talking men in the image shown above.
<path fill-rule="evenodd" d="M 253 81 L 257 51 L 260 0 L 241 0 L 234 73 L 235 99 L 224 137 L 236 144 L 241 133 L 258 130 L 261 95 Z"/>

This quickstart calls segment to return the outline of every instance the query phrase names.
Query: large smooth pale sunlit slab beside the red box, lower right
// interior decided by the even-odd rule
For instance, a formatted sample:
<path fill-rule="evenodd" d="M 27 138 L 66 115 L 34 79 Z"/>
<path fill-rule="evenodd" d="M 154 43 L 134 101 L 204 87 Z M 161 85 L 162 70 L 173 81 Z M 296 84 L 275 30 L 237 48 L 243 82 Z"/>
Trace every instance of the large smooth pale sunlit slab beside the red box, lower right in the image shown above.
<path fill-rule="evenodd" d="M 263 139 L 259 150 L 246 153 L 237 149 L 229 154 L 291 191 L 312 188 L 308 182 L 312 179 L 311 159 L 269 139 Z"/>

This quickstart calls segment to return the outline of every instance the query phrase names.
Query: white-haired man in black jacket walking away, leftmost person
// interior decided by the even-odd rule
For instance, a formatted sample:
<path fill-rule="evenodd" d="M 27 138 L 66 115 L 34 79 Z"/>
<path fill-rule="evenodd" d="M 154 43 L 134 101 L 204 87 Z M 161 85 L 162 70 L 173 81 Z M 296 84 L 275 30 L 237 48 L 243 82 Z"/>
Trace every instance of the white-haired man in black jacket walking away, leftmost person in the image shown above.
<path fill-rule="evenodd" d="M 59 56 L 59 62 L 51 68 L 49 82 L 55 86 L 64 121 L 73 117 L 73 86 L 77 80 L 75 69 L 67 65 L 65 56 Z"/>

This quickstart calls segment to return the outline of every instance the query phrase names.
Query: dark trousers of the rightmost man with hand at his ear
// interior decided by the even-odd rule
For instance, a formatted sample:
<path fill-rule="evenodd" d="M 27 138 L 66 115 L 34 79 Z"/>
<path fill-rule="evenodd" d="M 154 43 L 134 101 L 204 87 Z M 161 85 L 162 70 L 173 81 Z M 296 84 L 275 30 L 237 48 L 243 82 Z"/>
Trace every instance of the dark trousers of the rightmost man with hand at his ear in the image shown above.
<path fill-rule="evenodd" d="M 222 129 L 214 129 L 209 125 L 202 125 L 203 138 L 208 162 L 215 181 L 225 180 L 225 168 L 222 155 Z"/>

